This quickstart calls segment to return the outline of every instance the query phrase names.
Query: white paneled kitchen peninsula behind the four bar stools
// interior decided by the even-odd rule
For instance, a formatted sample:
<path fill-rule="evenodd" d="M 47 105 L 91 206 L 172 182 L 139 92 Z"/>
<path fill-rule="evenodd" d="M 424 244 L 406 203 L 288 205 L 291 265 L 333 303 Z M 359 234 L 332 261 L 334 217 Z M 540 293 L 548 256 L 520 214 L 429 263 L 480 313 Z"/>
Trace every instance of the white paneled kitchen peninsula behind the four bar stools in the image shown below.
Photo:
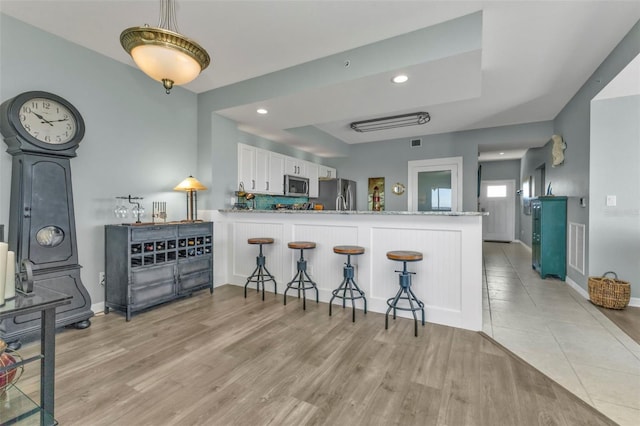
<path fill-rule="evenodd" d="M 398 265 L 391 250 L 414 250 L 424 260 L 410 265 L 413 291 L 425 303 L 426 320 L 468 330 L 482 329 L 482 216 L 478 212 L 370 212 L 314 210 L 218 210 L 207 212 L 215 224 L 216 284 L 244 285 L 255 268 L 256 248 L 248 238 L 271 237 L 264 248 L 267 268 L 276 277 L 279 297 L 295 273 L 298 251 L 290 241 L 314 241 L 305 251 L 308 272 L 320 301 L 328 302 L 342 280 L 344 258 L 333 246 L 359 245 L 356 281 L 367 295 L 368 310 L 386 312 L 398 290 Z M 267 291 L 272 287 L 267 286 Z M 362 309 L 362 305 L 357 305 Z M 409 317 L 408 312 L 398 311 Z"/>

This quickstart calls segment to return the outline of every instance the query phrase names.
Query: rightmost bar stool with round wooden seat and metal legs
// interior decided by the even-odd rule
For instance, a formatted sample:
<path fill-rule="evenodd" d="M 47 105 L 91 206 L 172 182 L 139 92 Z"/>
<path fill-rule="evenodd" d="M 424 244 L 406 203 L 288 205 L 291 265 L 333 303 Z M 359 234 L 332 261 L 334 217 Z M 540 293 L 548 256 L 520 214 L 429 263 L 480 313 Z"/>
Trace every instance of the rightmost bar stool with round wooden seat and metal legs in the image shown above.
<path fill-rule="evenodd" d="M 411 290 L 411 275 L 415 275 L 415 272 L 407 271 L 407 262 L 418 262 L 422 260 L 422 253 L 417 251 L 390 251 L 387 253 L 387 258 L 390 260 L 396 260 L 402 262 L 402 271 L 399 272 L 399 284 L 400 289 L 395 297 L 387 299 L 387 305 L 389 308 L 387 309 L 387 313 L 384 317 L 384 328 L 385 330 L 389 328 L 389 311 L 393 309 L 393 319 L 396 319 L 396 309 L 400 309 L 402 311 L 411 311 L 413 314 L 413 322 L 414 322 L 414 330 L 415 335 L 418 337 L 418 319 L 416 318 L 416 311 L 422 311 L 422 325 L 424 326 L 424 303 L 422 303 L 416 295 Z M 404 294 L 404 296 L 403 296 Z M 409 307 L 398 306 L 398 301 L 406 300 L 409 302 Z"/>

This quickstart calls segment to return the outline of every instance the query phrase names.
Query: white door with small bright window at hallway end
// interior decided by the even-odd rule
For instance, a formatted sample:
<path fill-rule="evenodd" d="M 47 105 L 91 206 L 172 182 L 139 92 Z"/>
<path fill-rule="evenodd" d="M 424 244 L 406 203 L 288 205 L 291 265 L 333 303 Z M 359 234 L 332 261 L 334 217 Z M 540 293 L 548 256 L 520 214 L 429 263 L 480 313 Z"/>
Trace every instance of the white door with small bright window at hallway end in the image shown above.
<path fill-rule="evenodd" d="M 489 212 L 482 218 L 482 239 L 513 241 L 515 235 L 515 180 L 483 180 L 480 184 L 480 211 Z"/>

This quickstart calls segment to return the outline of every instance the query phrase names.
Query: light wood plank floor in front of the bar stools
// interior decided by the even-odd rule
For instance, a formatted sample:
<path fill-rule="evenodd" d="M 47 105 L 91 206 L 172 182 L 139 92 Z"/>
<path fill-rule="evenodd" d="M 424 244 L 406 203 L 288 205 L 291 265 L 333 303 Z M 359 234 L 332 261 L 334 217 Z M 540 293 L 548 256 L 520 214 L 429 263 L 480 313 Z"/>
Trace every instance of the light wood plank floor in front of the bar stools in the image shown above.
<path fill-rule="evenodd" d="M 69 425 L 612 425 L 480 333 L 223 286 L 57 335 Z M 29 352 L 30 347 L 23 348 Z M 26 374 L 21 385 L 35 389 Z M 32 373 L 31 373 L 32 374 Z M 32 392 L 33 392 L 32 389 Z"/>

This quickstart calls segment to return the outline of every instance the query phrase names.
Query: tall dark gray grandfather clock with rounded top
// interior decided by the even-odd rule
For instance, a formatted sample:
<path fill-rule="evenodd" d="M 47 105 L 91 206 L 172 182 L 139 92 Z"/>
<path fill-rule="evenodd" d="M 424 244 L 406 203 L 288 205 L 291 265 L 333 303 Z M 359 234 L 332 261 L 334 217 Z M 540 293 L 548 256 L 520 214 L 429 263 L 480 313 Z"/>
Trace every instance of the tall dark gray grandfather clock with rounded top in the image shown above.
<path fill-rule="evenodd" d="M 93 312 L 80 279 L 70 164 L 84 136 L 82 116 L 57 95 L 25 92 L 0 105 L 0 131 L 13 156 L 8 242 L 16 270 L 32 271 L 35 291 L 73 296 L 57 309 L 56 327 L 87 328 Z M 18 316 L 0 322 L 0 336 L 19 341 L 39 328 L 39 316 Z"/>

